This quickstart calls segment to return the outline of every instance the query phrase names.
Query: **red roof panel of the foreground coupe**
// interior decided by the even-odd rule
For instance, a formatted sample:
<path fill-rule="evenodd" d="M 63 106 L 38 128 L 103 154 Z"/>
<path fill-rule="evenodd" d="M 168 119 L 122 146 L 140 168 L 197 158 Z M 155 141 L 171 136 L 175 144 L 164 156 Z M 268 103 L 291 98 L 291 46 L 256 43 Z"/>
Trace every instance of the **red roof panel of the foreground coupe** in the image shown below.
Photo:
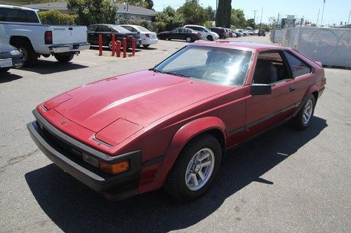
<path fill-rule="evenodd" d="M 227 48 L 241 48 L 248 50 L 263 50 L 263 49 L 282 49 L 283 47 L 277 45 L 265 45 L 261 43 L 244 43 L 244 42 L 230 42 L 230 41 L 199 41 L 195 45 L 210 45 Z"/>

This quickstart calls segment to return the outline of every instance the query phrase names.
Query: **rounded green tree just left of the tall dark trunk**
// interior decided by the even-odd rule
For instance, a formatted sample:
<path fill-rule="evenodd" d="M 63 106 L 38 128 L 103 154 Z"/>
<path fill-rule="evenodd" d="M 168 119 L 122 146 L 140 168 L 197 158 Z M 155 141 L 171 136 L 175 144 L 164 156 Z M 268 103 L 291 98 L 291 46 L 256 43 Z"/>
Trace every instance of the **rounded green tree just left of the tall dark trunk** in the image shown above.
<path fill-rule="evenodd" d="M 208 20 L 206 10 L 200 6 L 198 0 L 186 0 L 177 11 L 183 15 L 185 24 L 201 25 Z"/>

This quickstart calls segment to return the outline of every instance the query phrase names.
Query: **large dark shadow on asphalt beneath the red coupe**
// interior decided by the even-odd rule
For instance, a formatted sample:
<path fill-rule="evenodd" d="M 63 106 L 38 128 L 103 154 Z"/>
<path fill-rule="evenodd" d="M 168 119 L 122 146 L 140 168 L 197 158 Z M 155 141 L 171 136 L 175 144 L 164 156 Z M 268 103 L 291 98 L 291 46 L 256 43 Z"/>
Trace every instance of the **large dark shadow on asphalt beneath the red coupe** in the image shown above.
<path fill-rule="evenodd" d="M 287 157 L 314 139 L 327 127 L 326 120 L 314 117 L 304 131 L 287 125 L 230 150 L 216 182 L 203 197 L 180 203 L 157 190 L 110 202 L 54 164 L 25 174 L 41 209 L 64 232 L 168 232 L 190 227 L 204 220 L 225 199 L 252 182 L 274 185 L 260 178 Z M 239 199 L 238 205 L 245 202 Z M 239 211 L 239 206 L 231 206 Z M 234 216 L 233 216 L 234 220 Z"/>

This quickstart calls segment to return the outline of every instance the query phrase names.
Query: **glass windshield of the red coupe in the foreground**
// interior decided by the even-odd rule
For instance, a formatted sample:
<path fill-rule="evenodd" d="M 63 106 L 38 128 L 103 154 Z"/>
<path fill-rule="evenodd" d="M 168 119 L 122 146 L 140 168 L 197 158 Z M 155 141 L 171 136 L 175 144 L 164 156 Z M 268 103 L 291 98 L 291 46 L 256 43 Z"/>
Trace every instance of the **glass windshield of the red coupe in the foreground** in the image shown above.
<path fill-rule="evenodd" d="M 244 85 L 251 57 L 249 50 L 188 45 L 153 70 L 218 85 Z"/>

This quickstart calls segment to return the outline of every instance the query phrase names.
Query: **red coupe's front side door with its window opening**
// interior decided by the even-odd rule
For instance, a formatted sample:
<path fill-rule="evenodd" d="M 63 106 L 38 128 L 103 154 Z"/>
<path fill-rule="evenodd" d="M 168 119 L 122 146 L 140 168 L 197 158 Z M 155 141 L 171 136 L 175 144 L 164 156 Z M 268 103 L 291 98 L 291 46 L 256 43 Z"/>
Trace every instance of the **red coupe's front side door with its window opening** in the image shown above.
<path fill-rule="evenodd" d="M 245 124 L 249 137 L 277 125 L 296 111 L 295 83 L 282 50 L 258 54 L 251 84 L 270 85 L 272 93 L 256 95 L 246 89 Z"/>

